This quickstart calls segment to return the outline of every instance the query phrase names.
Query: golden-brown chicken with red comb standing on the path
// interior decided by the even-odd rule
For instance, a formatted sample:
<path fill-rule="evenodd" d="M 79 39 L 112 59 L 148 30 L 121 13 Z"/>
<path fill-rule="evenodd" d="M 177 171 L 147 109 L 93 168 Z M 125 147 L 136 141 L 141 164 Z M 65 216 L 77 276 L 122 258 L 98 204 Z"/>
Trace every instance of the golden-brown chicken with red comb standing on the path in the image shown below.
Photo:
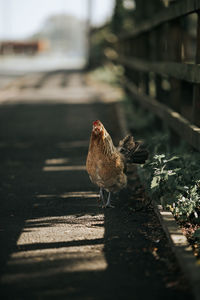
<path fill-rule="evenodd" d="M 100 188 L 99 199 L 105 208 L 113 207 L 111 193 L 117 193 L 127 187 L 127 165 L 144 164 L 148 151 L 141 148 L 142 142 L 127 135 L 114 146 L 110 134 L 100 120 L 93 122 L 90 136 L 86 170 L 92 183 Z M 108 192 L 107 201 L 105 191 Z"/>

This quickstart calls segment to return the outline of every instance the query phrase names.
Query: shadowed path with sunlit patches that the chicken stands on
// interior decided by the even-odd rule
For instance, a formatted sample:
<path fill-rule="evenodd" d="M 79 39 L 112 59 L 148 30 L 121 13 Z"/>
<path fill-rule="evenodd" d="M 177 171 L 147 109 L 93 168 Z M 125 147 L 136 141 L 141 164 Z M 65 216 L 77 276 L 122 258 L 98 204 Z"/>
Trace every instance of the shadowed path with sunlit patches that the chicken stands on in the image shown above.
<path fill-rule="evenodd" d="M 0 92 L 1 299 L 192 299 L 137 177 L 103 210 L 85 171 L 93 120 L 120 138 L 115 91 L 34 76 Z"/>

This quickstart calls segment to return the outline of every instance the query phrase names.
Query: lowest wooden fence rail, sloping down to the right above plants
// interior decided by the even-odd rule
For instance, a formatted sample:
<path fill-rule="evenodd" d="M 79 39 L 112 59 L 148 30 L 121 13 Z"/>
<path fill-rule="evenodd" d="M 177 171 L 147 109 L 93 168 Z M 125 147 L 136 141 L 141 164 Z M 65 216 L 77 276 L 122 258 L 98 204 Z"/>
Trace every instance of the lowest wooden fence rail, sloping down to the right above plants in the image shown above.
<path fill-rule="evenodd" d="M 169 127 L 183 137 L 191 146 L 200 151 L 200 128 L 191 124 L 179 113 L 173 111 L 166 105 L 159 103 L 151 97 L 138 93 L 137 87 L 128 79 L 123 80 L 123 85 L 131 92 L 134 99 L 142 106 L 152 111 L 165 121 Z"/>

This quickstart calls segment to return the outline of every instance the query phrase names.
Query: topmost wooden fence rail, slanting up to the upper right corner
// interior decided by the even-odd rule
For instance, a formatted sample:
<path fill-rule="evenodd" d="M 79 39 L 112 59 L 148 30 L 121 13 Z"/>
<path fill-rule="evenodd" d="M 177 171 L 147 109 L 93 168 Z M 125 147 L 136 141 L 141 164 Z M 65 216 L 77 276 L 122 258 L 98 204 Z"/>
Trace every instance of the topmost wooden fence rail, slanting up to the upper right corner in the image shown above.
<path fill-rule="evenodd" d="M 144 21 L 131 33 L 120 36 L 120 40 L 134 38 L 135 36 L 150 31 L 156 26 L 165 22 L 177 19 L 179 17 L 196 12 L 200 9 L 200 0 L 182 0 L 177 4 L 173 4 L 168 8 L 164 8 L 159 13 L 154 15 L 151 19 Z"/>

